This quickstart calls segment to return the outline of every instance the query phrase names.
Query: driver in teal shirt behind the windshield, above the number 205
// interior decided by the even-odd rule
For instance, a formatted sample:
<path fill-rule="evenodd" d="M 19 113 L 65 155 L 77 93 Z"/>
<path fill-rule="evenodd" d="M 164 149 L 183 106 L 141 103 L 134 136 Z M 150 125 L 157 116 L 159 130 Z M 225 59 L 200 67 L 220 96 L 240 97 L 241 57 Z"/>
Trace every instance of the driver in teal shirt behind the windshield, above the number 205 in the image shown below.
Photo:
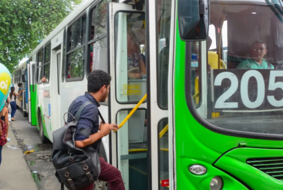
<path fill-rule="evenodd" d="M 237 68 L 251 69 L 273 69 L 274 66 L 266 62 L 264 55 L 267 53 L 267 46 L 264 41 L 255 41 L 251 47 L 251 58 L 241 61 Z"/>

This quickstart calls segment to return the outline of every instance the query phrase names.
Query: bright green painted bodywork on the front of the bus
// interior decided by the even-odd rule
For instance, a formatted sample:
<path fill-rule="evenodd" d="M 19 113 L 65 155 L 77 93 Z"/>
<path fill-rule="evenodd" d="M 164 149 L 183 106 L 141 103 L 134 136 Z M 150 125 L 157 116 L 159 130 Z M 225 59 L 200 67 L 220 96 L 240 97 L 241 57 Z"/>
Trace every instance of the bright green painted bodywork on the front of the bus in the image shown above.
<path fill-rule="evenodd" d="M 185 76 L 190 75 L 185 71 L 186 42 L 179 37 L 178 23 L 176 28 L 174 121 L 177 189 L 209 190 L 211 179 L 215 176 L 220 176 L 224 180 L 223 189 L 246 189 L 241 182 L 224 171 L 232 173 L 253 190 L 282 189 L 283 182 L 246 164 L 246 159 L 282 157 L 283 151 L 278 149 L 282 149 L 283 141 L 233 137 L 215 133 L 199 124 L 189 111 L 185 97 Z M 235 149 L 239 144 L 244 144 L 245 147 Z M 235 150 L 226 153 L 214 167 L 213 163 L 231 149 Z M 188 170 L 192 164 L 204 165 L 207 173 L 194 175 Z"/>

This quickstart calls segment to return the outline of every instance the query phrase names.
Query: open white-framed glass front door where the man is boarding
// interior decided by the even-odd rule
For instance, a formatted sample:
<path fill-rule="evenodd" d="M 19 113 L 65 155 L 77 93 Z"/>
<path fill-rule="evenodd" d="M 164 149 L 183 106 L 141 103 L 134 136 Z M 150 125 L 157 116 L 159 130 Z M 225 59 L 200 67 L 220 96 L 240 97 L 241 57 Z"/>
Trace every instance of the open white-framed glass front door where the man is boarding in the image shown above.
<path fill-rule="evenodd" d="M 110 120 L 121 128 L 111 133 L 110 162 L 121 171 L 127 190 L 148 189 L 145 15 L 124 3 L 108 4 L 110 63 Z M 144 98 L 137 110 L 127 115 Z M 121 124 L 124 122 L 124 124 Z"/>

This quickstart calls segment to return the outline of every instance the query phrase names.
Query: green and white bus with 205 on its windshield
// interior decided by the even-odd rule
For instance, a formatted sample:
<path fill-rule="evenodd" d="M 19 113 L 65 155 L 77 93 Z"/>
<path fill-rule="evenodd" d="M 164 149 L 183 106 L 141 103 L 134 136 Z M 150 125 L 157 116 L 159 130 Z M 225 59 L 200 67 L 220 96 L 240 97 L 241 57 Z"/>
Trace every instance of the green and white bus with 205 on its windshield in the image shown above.
<path fill-rule="evenodd" d="M 282 4 L 83 1 L 30 54 L 32 124 L 52 142 L 88 74 L 105 70 L 106 122 L 146 95 L 102 140 L 127 190 L 282 189 Z"/>

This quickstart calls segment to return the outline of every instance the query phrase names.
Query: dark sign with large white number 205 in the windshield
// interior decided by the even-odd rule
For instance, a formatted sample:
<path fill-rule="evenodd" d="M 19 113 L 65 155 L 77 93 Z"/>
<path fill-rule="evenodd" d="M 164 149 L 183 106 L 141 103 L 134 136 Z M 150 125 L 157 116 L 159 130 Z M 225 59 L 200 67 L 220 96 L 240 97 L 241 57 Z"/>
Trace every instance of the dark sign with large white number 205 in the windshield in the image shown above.
<path fill-rule="evenodd" d="M 283 70 L 213 70 L 214 109 L 283 108 Z"/>

